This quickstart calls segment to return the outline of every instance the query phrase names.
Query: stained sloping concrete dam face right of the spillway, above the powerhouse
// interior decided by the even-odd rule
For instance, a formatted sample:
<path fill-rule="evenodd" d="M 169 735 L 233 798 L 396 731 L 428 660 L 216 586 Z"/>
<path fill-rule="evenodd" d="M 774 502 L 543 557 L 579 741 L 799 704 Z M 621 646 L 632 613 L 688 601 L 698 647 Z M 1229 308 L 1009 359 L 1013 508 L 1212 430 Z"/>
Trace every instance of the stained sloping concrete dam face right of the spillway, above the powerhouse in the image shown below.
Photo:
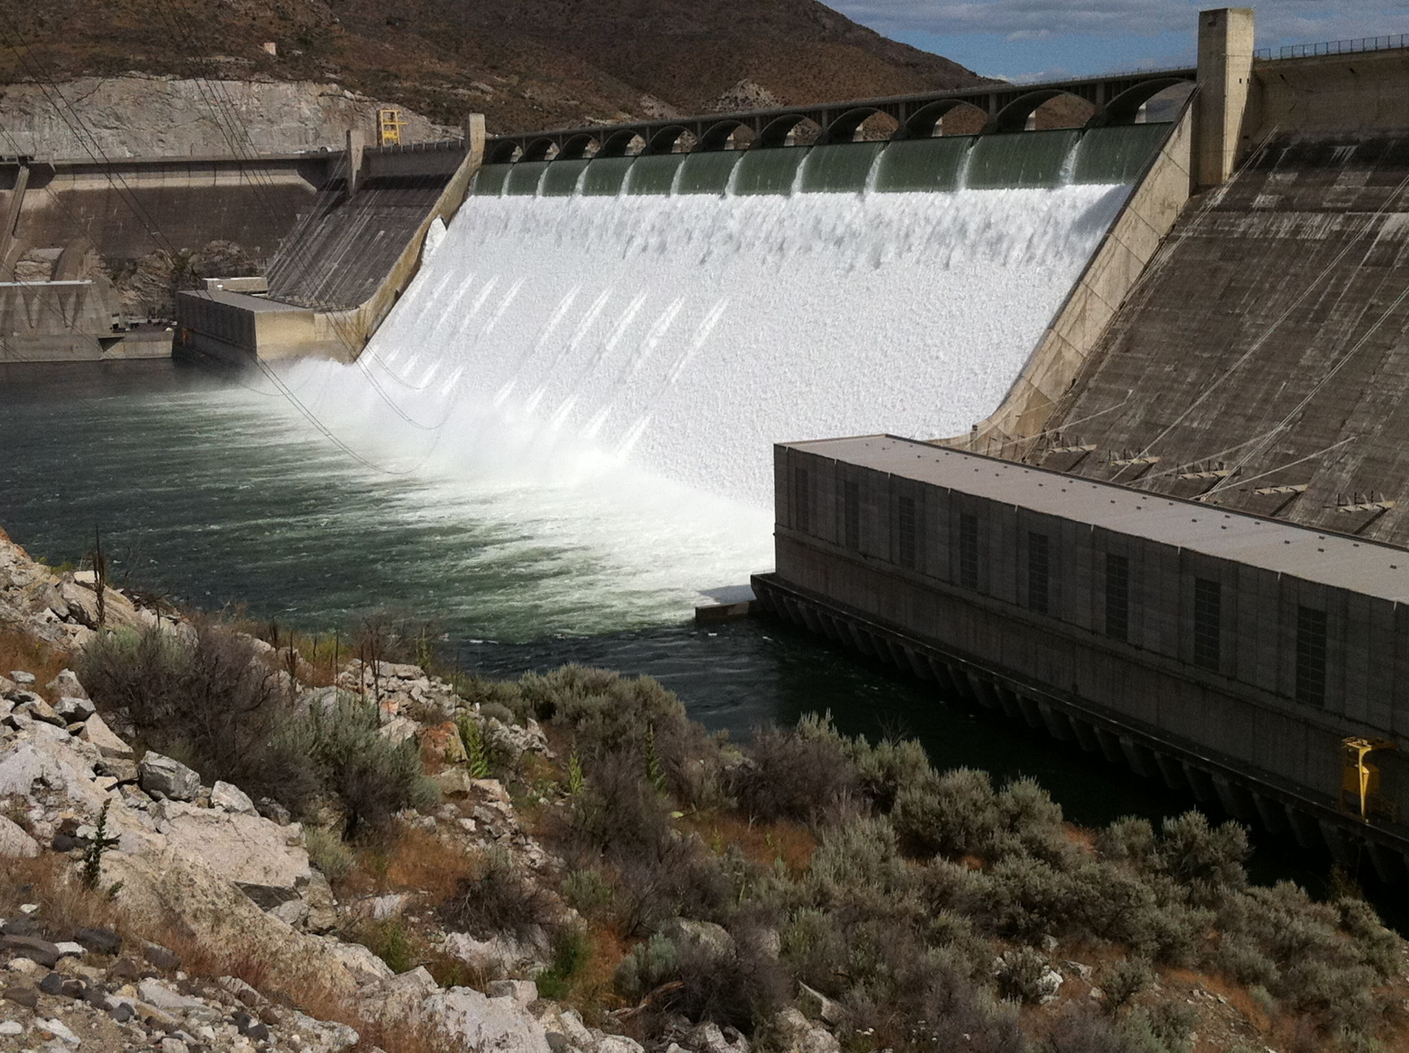
<path fill-rule="evenodd" d="M 1191 203 L 1036 460 L 1409 544 L 1406 290 L 1409 131 L 1274 138 Z"/>

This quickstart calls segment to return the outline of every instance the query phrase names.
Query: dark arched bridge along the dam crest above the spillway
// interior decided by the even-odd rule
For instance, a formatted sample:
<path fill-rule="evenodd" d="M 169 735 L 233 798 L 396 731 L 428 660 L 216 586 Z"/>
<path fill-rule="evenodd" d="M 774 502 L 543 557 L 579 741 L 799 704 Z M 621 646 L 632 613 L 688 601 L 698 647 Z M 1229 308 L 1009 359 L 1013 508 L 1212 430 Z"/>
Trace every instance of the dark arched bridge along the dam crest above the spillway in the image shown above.
<path fill-rule="evenodd" d="M 672 154 L 678 152 L 678 144 L 686 135 L 693 138 L 692 151 L 726 149 L 740 128 L 752 133 L 751 148 L 783 147 L 789 135 L 807 121 L 819 128 L 817 145 L 851 142 L 861 125 L 876 114 L 895 120 L 898 127 L 893 138 L 929 138 L 934 135 L 940 120 L 961 106 L 978 107 L 988 114 L 985 133 L 1023 131 L 1029 117 L 1040 106 L 1060 96 L 1072 96 L 1095 106 L 1089 125 L 1133 124 L 1140 107 L 1150 99 L 1168 87 L 1192 83 L 1195 78 L 1193 68 L 1161 69 L 1044 85 L 995 83 L 886 99 L 496 135 L 488 144 L 485 161 L 506 164 L 627 156 L 635 152 L 633 144 L 637 141 L 641 154 Z"/>

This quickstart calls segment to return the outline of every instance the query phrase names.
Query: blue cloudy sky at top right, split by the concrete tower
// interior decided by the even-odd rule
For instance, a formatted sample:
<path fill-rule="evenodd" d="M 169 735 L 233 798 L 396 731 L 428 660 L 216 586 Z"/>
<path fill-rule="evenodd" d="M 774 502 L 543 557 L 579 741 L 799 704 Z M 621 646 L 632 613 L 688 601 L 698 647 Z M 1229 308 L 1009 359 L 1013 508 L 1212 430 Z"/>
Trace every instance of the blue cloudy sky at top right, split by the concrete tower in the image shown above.
<path fill-rule="evenodd" d="M 1217 0 L 828 0 L 862 25 L 985 76 L 1047 80 L 1193 65 L 1195 17 Z M 1247 4 L 1243 4 L 1247 6 Z M 1257 47 L 1409 34 L 1409 0 L 1262 0 Z"/>

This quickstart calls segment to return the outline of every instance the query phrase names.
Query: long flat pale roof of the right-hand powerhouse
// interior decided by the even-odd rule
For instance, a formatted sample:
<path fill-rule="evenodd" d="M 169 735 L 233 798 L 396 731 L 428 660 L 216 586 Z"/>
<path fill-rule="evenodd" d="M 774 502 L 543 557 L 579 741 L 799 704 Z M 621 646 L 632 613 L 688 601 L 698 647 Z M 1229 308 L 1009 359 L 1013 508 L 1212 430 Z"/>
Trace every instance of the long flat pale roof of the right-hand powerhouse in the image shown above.
<path fill-rule="evenodd" d="M 783 445 L 1131 537 L 1409 602 L 1409 551 L 895 436 Z"/>

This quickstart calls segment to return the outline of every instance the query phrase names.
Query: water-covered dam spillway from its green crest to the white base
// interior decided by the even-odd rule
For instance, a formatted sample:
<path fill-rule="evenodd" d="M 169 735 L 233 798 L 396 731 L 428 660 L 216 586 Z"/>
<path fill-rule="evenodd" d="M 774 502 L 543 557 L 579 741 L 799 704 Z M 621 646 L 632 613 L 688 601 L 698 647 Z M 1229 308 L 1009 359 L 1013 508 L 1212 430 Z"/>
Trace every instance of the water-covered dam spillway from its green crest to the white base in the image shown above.
<path fill-rule="evenodd" d="M 764 506 L 786 436 L 992 412 L 1165 133 L 489 165 L 341 398 Z"/>

